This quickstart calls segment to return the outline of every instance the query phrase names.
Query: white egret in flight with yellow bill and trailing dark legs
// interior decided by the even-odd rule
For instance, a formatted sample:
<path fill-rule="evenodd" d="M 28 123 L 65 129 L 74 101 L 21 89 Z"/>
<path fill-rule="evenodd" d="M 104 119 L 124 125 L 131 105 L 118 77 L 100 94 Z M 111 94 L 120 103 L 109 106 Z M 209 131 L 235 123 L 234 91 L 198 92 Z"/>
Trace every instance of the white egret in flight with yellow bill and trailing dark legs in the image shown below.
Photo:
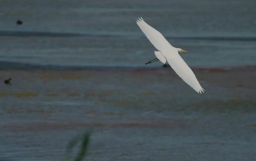
<path fill-rule="evenodd" d="M 183 79 L 189 86 L 195 89 L 196 92 L 202 93 L 204 89 L 199 84 L 195 77 L 195 74 L 185 63 L 185 61 L 180 57 L 178 52 L 187 52 L 180 48 L 173 47 L 164 37 L 153 27 L 149 26 L 142 17 L 136 21 L 137 25 L 140 27 L 142 32 L 146 35 L 148 40 L 154 45 L 158 50 L 154 54 L 157 58 L 149 61 L 148 63 L 153 63 L 160 60 L 162 63 L 169 63 L 172 69 Z M 146 64 L 148 64 L 146 63 Z"/>

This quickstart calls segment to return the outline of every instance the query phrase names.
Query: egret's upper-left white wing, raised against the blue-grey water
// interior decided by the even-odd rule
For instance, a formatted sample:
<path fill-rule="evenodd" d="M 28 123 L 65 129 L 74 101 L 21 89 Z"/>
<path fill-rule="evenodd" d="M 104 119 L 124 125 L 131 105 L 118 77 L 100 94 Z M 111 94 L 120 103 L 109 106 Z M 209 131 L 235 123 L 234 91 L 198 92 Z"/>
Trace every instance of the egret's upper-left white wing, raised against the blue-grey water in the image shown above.
<path fill-rule="evenodd" d="M 159 51 L 163 51 L 166 47 L 171 46 L 171 44 L 163 37 L 163 35 L 158 32 L 153 27 L 149 26 L 141 18 L 136 21 L 137 25 L 140 27 L 142 32 L 146 35 L 148 40 L 154 45 L 155 48 Z"/>

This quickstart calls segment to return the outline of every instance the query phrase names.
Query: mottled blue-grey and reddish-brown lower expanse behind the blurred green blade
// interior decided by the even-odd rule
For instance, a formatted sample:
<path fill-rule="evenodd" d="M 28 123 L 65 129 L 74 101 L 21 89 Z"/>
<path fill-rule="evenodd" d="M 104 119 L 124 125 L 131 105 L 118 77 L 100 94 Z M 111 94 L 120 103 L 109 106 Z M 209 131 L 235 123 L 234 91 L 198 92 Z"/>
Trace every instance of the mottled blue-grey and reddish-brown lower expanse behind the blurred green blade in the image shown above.
<path fill-rule="evenodd" d="M 172 69 L 2 70 L 0 160 L 63 160 L 92 128 L 89 161 L 252 161 L 256 66 L 193 71 L 202 95 Z"/>

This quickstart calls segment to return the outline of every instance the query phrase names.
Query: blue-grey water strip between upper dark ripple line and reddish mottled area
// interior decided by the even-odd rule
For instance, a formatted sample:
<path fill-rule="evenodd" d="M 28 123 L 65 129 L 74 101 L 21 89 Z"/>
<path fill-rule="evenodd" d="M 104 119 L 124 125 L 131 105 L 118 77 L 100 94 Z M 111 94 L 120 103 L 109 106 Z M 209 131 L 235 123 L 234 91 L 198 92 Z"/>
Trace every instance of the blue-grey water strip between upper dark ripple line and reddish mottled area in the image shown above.
<path fill-rule="evenodd" d="M 170 40 L 172 41 L 172 40 Z M 173 40 L 192 67 L 232 67 L 256 65 L 256 41 Z M 18 69 L 19 63 L 51 66 L 86 67 L 159 67 L 156 49 L 146 38 L 125 37 L 1 37 L 0 61 Z M 13 48 L 12 44 L 17 44 Z M 4 49 L 3 49 L 4 47 Z M 5 64 L 6 66 L 6 64 Z M 2 69 L 4 66 L 1 66 Z"/>

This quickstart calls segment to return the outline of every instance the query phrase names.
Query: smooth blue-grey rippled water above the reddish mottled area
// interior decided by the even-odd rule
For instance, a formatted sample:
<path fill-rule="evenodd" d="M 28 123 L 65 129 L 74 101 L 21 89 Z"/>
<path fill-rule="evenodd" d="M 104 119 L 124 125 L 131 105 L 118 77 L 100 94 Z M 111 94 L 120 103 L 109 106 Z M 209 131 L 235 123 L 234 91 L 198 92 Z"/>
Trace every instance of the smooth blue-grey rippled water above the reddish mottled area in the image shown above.
<path fill-rule="evenodd" d="M 254 0 L 14 0 L 3 4 L 0 61 L 14 68 L 20 68 L 17 63 L 42 68 L 145 67 L 156 49 L 135 23 L 140 16 L 173 46 L 189 51 L 181 54 L 189 66 L 256 65 Z M 17 19 L 23 25 L 17 26 Z"/>

